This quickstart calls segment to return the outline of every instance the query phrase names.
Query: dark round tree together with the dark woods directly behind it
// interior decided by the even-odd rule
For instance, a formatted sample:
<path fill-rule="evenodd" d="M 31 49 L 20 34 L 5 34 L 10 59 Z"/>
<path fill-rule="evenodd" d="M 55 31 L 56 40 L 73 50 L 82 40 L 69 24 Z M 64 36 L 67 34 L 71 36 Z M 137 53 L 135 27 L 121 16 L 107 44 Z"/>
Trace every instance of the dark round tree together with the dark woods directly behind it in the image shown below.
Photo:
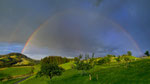
<path fill-rule="evenodd" d="M 59 76 L 64 71 L 63 68 L 59 67 L 59 64 L 67 63 L 71 59 L 60 56 L 49 56 L 41 60 L 41 70 L 37 73 L 38 76 L 48 76 L 50 79 L 54 76 Z"/>

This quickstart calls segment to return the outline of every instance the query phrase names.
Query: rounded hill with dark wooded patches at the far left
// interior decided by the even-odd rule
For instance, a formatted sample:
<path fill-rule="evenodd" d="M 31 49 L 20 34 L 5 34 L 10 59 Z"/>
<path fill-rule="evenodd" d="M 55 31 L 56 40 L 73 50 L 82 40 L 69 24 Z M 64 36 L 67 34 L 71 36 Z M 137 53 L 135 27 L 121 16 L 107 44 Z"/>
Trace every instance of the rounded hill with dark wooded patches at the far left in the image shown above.
<path fill-rule="evenodd" d="M 38 61 L 33 60 L 21 53 L 0 55 L 0 67 L 34 65 L 35 63 L 38 63 Z"/>

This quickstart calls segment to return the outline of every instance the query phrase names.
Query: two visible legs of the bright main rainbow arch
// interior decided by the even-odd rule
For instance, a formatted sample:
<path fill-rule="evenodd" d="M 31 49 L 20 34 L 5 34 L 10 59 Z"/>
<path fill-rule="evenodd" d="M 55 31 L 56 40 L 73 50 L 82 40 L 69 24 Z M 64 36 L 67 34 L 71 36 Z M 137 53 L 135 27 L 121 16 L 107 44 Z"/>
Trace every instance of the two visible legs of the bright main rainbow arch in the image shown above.
<path fill-rule="evenodd" d="M 119 30 L 123 31 L 123 33 L 128 37 L 128 39 L 133 43 L 135 48 L 138 50 L 139 54 L 142 54 L 140 47 L 138 46 L 136 41 L 133 39 L 133 37 L 129 34 L 129 32 L 127 30 L 125 30 L 125 28 L 123 28 L 120 24 L 117 24 L 113 20 L 107 19 L 106 17 L 104 19 L 109 21 L 112 25 L 116 26 Z M 26 47 L 29 45 L 30 41 L 34 38 L 34 36 L 37 34 L 37 32 L 39 32 L 42 28 L 44 28 L 44 26 L 46 26 L 48 24 L 48 22 L 49 22 L 49 18 L 44 23 L 40 24 L 40 26 L 30 35 L 30 37 L 28 38 L 28 40 L 25 43 L 24 48 L 22 49 L 22 53 L 24 53 Z"/>

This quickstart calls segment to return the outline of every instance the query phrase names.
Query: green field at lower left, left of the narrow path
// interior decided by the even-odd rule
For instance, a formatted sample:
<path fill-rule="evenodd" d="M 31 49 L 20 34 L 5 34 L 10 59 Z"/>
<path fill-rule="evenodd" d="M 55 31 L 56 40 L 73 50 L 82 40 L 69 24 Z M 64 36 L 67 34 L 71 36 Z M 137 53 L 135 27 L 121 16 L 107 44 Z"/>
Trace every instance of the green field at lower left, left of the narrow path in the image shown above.
<path fill-rule="evenodd" d="M 14 84 L 30 74 L 31 70 L 31 66 L 1 68 L 0 79 L 3 81 L 0 81 L 0 84 Z"/>

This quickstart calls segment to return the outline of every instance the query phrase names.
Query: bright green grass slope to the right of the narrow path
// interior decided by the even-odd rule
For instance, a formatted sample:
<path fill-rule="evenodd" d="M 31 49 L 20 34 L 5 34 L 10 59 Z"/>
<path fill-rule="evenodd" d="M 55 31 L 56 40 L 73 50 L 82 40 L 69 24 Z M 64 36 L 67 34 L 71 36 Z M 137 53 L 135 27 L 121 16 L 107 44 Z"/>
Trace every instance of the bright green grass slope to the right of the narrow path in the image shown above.
<path fill-rule="evenodd" d="M 131 63 L 96 65 L 84 74 L 83 71 L 69 69 L 52 80 L 32 76 L 20 84 L 148 84 L 150 83 L 149 66 L 150 59 Z M 89 80 L 89 74 L 92 80 Z"/>

